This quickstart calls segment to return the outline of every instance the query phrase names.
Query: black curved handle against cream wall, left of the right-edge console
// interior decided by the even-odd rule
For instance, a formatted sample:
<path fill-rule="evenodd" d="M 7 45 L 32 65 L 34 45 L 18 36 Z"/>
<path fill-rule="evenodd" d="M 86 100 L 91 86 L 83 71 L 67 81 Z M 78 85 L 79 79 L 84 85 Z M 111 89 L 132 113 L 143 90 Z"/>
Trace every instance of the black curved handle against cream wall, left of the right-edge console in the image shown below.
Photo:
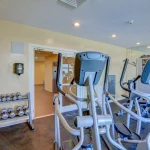
<path fill-rule="evenodd" d="M 127 66 L 128 66 L 128 63 L 129 63 L 129 59 L 127 58 L 125 60 L 125 63 L 124 63 L 124 66 L 123 66 L 123 70 L 122 70 L 122 74 L 121 74 L 121 78 L 120 78 L 120 86 L 122 87 L 122 89 L 124 89 L 125 91 L 128 91 L 128 92 L 131 92 L 130 89 L 126 88 L 123 84 L 123 79 L 124 79 L 124 76 L 125 76 L 125 72 L 127 70 Z"/>

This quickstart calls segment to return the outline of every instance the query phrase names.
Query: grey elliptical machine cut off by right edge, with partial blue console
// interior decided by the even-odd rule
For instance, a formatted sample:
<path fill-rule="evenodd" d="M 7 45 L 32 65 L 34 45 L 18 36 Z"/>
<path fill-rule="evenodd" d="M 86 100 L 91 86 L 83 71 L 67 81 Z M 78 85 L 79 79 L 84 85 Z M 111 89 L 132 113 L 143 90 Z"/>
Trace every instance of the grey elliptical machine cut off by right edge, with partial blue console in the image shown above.
<path fill-rule="evenodd" d="M 150 84 L 150 60 L 147 62 L 146 66 L 143 70 L 143 73 L 141 76 L 141 82 L 143 84 Z M 132 111 L 133 101 L 135 102 L 136 107 L 138 109 L 140 109 L 137 97 L 142 97 L 144 99 L 149 100 L 150 94 L 142 93 L 142 92 L 136 91 L 136 90 L 131 90 L 131 93 L 130 93 L 131 99 L 130 99 L 129 108 L 126 108 L 122 104 L 117 102 L 117 100 L 114 99 L 110 93 L 106 92 L 106 95 L 119 108 L 121 108 L 122 110 L 124 110 L 127 113 L 127 126 L 122 123 L 115 124 L 115 129 L 116 129 L 116 132 L 118 133 L 118 138 L 117 138 L 118 143 L 120 143 L 120 144 L 134 143 L 134 144 L 138 144 L 137 148 L 136 148 L 137 150 L 150 150 L 150 133 L 148 134 L 148 136 L 145 140 L 141 140 L 140 136 L 138 134 L 132 132 L 128 127 L 131 115 L 137 119 L 136 132 L 140 131 L 139 124 L 141 124 L 141 122 L 150 123 L 150 119 L 142 117 L 139 112 L 136 114 Z M 110 109 L 110 111 L 111 111 L 111 109 Z"/>

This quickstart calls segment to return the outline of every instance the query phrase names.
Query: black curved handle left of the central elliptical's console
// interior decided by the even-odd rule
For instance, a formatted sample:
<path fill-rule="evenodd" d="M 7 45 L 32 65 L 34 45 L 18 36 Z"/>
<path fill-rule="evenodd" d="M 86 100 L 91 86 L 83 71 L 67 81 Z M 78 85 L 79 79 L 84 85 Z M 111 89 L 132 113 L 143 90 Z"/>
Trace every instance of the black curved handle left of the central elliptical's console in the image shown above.
<path fill-rule="evenodd" d="M 60 71 L 61 71 L 61 61 L 62 61 L 62 54 L 58 54 L 58 64 L 57 64 L 57 75 L 56 75 L 56 85 L 58 88 L 58 91 L 65 96 L 65 92 L 61 89 L 60 84 Z"/>

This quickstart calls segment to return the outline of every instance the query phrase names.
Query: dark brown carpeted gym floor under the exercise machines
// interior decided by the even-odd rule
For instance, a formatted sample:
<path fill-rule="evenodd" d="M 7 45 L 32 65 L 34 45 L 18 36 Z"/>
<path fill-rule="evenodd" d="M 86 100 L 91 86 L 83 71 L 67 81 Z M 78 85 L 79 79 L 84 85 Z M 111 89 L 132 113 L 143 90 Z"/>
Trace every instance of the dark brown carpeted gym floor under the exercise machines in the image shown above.
<path fill-rule="evenodd" d="M 115 112 L 116 106 L 112 106 Z M 65 113 L 64 116 L 68 123 L 74 126 L 74 117 L 76 112 Z M 124 117 L 116 117 L 116 122 L 125 122 Z M 135 121 L 132 121 L 131 128 L 135 130 Z M 45 117 L 42 119 L 34 120 L 35 130 L 31 131 L 26 123 L 5 127 L 0 129 L 0 150 L 53 150 L 54 141 L 54 116 Z M 142 124 L 141 137 L 145 138 L 150 132 L 148 124 Z M 71 136 L 61 126 L 62 140 L 74 139 L 76 137 Z M 103 142 L 102 142 L 103 143 Z M 135 146 L 126 145 L 127 149 L 134 150 Z M 105 144 L 102 144 L 102 150 L 107 150 Z"/>

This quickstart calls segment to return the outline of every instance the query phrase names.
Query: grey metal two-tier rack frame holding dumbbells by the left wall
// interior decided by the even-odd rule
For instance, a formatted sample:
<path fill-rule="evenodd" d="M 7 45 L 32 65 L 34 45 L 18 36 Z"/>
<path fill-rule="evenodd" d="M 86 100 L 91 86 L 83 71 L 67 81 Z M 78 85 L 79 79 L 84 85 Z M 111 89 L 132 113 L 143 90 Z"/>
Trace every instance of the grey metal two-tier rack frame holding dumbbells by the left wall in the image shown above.
<path fill-rule="evenodd" d="M 10 100 L 10 101 L 5 101 L 5 102 L 0 102 L 0 104 L 5 104 L 5 103 L 14 103 L 14 102 L 21 102 L 21 101 L 28 101 L 28 108 L 29 108 L 29 115 L 23 115 L 22 117 L 19 117 L 19 116 L 15 116 L 14 118 L 7 118 L 6 120 L 4 119 L 0 119 L 0 127 L 3 127 L 2 123 L 8 123 L 9 124 L 9 121 L 13 121 L 13 120 L 17 120 L 17 122 L 19 122 L 21 119 L 25 119 L 27 118 L 28 119 L 28 125 L 30 127 L 31 130 L 34 130 L 34 126 L 33 126 L 33 122 L 32 122 L 32 110 L 31 110 L 31 100 L 30 100 L 30 93 L 24 95 L 22 97 L 22 99 L 20 100 Z"/>

